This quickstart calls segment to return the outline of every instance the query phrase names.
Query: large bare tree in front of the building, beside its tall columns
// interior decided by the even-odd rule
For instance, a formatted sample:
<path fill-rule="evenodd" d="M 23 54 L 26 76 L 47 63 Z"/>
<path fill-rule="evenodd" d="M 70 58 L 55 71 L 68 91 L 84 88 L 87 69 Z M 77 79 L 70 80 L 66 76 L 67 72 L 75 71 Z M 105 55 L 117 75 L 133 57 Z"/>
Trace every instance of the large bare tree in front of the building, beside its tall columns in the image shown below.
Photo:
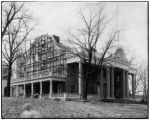
<path fill-rule="evenodd" d="M 112 49 L 114 41 L 116 41 L 117 31 L 116 29 L 111 30 L 105 36 L 105 43 L 102 42 L 104 33 L 111 29 L 110 26 L 108 27 L 111 20 L 107 19 L 104 14 L 104 5 L 98 6 L 95 12 L 91 9 L 88 13 L 80 10 L 80 16 L 83 26 L 77 30 L 76 34 L 70 33 L 69 43 L 72 45 L 70 52 L 78 56 L 83 64 L 86 65 L 86 71 L 83 73 L 83 92 L 80 99 L 87 100 L 89 78 L 91 75 L 101 71 L 104 58 Z M 98 42 L 99 45 L 103 46 L 101 55 L 96 52 Z M 91 69 L 93 64 L 94 69 Z"/>

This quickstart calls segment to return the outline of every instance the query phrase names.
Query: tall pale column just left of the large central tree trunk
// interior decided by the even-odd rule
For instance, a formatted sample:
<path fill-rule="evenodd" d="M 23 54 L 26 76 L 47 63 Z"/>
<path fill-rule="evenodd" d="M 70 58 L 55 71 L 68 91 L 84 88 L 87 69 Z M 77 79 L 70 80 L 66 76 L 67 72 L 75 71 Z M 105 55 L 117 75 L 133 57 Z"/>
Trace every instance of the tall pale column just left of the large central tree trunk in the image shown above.
<path fill-rule="evenodd" d="M 82 73 L 83 73 L 83 64 L 81 62 L 79 62 L 78 81 L 79 81 L 79 96 L 80 96 L 80 99 L 81 99 L 82 91 L 83 91 Z"/>

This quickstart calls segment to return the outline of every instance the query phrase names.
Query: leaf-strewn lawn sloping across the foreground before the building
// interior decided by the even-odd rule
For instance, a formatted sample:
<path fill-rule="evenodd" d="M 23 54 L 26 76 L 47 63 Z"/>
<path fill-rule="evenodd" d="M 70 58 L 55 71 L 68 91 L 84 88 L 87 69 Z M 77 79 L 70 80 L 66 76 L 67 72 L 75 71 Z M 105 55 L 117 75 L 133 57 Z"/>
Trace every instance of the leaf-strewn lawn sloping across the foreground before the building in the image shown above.
<path fill-rule="evenodd" d="M 110 102 L 2 98 L 2 118 L 19 118 L 21 106 L 31 103 L 42 118 L 147 118 L 148 106 Z"/>

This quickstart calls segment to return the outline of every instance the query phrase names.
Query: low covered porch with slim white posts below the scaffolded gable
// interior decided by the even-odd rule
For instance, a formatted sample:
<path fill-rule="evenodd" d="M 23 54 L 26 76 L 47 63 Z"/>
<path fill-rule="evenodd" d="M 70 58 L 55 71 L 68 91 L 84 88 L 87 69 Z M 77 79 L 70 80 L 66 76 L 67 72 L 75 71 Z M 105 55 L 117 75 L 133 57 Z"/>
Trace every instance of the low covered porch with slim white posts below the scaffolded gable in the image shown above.
<path fill-rule="evenodd" d="M 47 97 L 62 96 L 65 92 L 65 79 L 47 78 L 31 81 L 21 81 L 11 84 L 11 96 L 14 97 Z"/>

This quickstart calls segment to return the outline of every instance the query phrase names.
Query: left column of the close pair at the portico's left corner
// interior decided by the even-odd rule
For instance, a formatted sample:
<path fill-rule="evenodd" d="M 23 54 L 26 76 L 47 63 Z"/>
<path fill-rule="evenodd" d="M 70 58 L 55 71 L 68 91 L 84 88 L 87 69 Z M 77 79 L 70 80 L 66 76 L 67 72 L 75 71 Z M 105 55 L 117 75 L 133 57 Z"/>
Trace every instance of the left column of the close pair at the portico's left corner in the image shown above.
<path fill-rule="evenodd" d="M 106 68 L 106 79 L 107 79 L 107 96 L 106 98 L 109 99 L 110 98 L 110 68 L 109 66 L 107 66 Z"/>

